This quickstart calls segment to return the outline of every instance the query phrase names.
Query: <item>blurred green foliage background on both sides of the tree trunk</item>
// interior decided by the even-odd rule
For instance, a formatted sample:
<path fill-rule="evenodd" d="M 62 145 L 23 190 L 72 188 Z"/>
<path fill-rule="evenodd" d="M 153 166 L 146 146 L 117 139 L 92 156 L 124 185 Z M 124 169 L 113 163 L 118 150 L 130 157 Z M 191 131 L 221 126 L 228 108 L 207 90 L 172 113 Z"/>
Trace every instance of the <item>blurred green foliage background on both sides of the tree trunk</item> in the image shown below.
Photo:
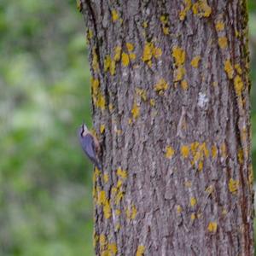
<path fill-rule="evenodd" d="M 252 79 L 256 5 L 249 1 Z M 0 2 L 0 255 L 93 255 L 84 20 L 75 1 Z M 256 167 L 256 90 L 252 90 Z"/>

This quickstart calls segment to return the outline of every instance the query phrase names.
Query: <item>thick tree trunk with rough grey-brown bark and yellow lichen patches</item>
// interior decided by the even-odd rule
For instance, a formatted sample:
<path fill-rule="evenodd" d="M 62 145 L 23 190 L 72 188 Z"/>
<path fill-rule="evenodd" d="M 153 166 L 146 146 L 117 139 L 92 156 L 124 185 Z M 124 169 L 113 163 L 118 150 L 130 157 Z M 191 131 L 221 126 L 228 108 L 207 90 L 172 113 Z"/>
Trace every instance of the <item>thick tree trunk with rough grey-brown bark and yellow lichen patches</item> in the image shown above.
<path fill-rule="evenodd" d="M 244 0 L 82 0 L 96 255 L 253 255 Z"/>

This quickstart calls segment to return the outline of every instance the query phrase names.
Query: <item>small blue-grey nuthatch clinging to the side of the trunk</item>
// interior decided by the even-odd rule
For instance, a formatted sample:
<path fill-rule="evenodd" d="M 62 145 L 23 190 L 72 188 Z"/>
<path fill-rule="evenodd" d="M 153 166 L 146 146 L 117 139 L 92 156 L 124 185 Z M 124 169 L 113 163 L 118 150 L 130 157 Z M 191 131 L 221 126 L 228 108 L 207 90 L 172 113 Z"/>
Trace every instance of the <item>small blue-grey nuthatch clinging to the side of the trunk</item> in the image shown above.
<path fill-rule="evenodd" d="M 84 124 L 81 125 L 79 129 L 79 140 L 84 153 L 95 164 L 95 166 L 101 170 L 102 168 L 97 160 L 101 149 L 100 143 Z"/>

